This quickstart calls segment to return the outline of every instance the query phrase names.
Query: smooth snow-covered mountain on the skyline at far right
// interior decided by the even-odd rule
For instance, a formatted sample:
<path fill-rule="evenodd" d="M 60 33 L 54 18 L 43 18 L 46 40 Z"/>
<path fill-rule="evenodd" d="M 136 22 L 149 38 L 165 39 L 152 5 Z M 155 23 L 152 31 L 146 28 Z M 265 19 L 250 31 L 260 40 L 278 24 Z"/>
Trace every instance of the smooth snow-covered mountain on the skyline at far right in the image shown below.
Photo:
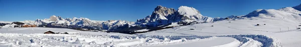
<path fill-rule="evenodd" d="M 242 17 L 278 18 L 288 19 L 291 21 L 300 21 L 301 11 L 294 7 L 284 7 L 280 9 L 257 9 Z"/>

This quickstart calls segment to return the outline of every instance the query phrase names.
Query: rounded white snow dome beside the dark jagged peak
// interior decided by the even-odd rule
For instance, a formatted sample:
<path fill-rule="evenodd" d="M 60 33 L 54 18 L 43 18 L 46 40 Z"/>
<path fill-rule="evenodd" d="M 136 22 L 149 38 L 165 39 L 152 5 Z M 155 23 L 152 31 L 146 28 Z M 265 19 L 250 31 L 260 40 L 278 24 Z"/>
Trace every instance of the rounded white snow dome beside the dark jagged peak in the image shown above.
<path fill-rule="evenodd" d="M 178 8 L 178 12 L 182 15 L 195 15 L 195 14 L 200 14 L 199 10 L 193 7 L 188 7 L 188 6 L 180 6 Z"/>

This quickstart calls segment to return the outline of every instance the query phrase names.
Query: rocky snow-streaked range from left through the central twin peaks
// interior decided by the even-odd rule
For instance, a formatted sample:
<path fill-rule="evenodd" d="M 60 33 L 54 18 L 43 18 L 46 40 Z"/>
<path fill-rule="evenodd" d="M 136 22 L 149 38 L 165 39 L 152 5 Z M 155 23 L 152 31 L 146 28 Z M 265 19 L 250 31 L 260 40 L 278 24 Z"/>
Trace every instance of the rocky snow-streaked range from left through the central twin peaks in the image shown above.
<path fill-rule="evenodd" d="M 137 19 L 136 22 L 130 22 L 126 20 L 98 21 L 83 17 L 63 18 L 56 15 L 52 15 L 50 18 L 37 19 L 34 21 L 25 20 L 21 22 L 37 24 L 40 27 L 87 28 L 102 31 L 130 33 L 133 30 L 138 29 L 157 30 L 164 28 L 165 26 L 171 26 L 170 24 L 172 23 L 187 25 L 191 22 L 211 22 L 222 19 L 224 18 L 203 16 L 199 10 L 193 7 L 180 6 L 176 10 L 174 8 L 168 8 L 159 5 L 155 8 L 151 15 L 148 15 L 142 19 Z"/>

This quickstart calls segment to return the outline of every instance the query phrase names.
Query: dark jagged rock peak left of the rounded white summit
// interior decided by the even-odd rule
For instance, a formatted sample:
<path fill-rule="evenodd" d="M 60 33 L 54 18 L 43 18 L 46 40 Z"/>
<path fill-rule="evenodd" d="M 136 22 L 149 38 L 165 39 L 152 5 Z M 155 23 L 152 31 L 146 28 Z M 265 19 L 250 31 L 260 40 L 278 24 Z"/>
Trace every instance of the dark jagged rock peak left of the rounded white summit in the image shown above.
<path fill-rule="evenodd" d="M 148 26 L 158 26 L 168 23 L 169 15 L 173 14 L 176 10 L 174 8 L 167 8 L 164 6 L 157 6 L 152 15 L 145 18 L 137 19 L 137 22 L 146 23 Z"/>

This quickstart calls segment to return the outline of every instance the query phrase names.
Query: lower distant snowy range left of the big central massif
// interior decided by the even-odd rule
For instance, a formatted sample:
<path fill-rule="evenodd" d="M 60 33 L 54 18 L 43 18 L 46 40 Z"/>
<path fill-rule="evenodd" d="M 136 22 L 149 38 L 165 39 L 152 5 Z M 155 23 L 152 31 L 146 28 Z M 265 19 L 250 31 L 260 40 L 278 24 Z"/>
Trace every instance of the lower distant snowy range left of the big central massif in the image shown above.
<path fill-rule="evenodd" d="M 31 22 L 33 23 L 33 22 Z M 65 28 L 81 28 L 81 27 L 92 27 L 96 29 L 109 30 L 124 24 L 133 24 L 134 22 L 126 20 L 108 20 L 108 21 L 98 21 L 90 20 L 89 18 L 62 18 L 60 16 L 52 15 L 50 18 L 37 19 L 33 24 L 46 27 L 65 27 Z"/>

